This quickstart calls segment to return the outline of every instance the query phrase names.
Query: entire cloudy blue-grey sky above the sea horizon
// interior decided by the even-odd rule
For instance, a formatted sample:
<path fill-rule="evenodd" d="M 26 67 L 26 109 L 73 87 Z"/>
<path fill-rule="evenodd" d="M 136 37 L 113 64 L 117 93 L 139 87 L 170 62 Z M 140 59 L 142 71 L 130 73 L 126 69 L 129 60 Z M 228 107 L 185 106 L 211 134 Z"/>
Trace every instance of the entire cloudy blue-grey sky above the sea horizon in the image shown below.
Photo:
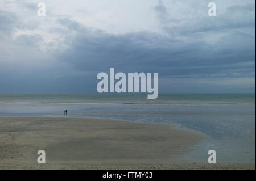
<path fill-rule="evenodd" d="M 255 93 L 255 1 L 0 0 L 0 93 L 97 92 L 110 68 L 157 72 L 160 93 Z"/>

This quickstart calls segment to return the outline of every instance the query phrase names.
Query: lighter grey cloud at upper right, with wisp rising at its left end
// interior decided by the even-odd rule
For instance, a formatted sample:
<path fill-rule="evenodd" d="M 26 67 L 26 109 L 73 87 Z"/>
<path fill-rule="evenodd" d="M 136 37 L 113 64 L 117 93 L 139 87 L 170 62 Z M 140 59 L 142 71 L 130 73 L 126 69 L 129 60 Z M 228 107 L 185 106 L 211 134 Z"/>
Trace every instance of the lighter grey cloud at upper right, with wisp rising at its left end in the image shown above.
<path fill-rule="evenodd" d="M 228 31 L 237 28 L 255 28 L 255 3 L 246 5 L 233 5 L 225 12 L 210 17 L 207 13 L 197 14 L 187 10 L 191 16 L 171 16 L 166 12 L 167 7 L 162 1 L 155 7 L 156 14 L 160 20 L 160 26 L 170 35 L 190 36 L 195 33 L 213 33 L 216 31 Z M 196 7 L 195 7 L 196 9 Z M 207 11 L 205 11 L 207 12 Z"/>

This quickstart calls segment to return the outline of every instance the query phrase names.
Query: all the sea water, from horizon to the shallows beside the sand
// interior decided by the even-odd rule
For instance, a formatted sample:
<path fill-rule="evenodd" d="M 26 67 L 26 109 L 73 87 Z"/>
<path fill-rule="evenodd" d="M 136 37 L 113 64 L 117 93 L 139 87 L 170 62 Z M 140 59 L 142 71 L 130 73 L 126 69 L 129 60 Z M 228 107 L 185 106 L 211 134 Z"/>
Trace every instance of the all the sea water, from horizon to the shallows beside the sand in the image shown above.
<path fill-rule="evenodd" d="M 204 133 L 180 160 L 255 163 L 255 94 L 0 94 L 0 116 L 98 117 Z M 1 126 L 1 125 L 0 125 Z"/>

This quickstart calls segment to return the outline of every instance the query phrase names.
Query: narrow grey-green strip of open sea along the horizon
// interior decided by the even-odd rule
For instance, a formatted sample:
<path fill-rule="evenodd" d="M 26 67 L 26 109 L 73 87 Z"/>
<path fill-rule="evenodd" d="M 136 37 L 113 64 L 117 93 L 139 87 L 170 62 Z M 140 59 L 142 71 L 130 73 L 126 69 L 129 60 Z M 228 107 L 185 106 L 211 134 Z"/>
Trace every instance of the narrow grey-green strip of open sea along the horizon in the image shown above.
<path fill-rule="evenodd" d="M 255 105 L 255 94 L 0 94 L 0 104 Z"/>

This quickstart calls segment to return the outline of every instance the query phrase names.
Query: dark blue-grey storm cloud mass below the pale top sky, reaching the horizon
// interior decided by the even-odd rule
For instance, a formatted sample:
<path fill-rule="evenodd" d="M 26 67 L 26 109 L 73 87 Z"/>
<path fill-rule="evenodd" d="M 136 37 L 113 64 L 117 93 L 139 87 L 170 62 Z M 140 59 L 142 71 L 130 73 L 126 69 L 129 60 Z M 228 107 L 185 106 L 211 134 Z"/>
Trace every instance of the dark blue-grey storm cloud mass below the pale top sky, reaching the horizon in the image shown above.
<path fill-rule="evenodd" d="M 95 92 L 109 68 L 158 72 L 160 92 L 255 91 L 255 5 L 184 19 L 159 1 L 154 12 L 164 33 L 107 33 L 51 16 L 46 32 L 39 19 L 0 10 L 0 92 Z M 13 39 L 16 29 L 25 33 Z"/>

